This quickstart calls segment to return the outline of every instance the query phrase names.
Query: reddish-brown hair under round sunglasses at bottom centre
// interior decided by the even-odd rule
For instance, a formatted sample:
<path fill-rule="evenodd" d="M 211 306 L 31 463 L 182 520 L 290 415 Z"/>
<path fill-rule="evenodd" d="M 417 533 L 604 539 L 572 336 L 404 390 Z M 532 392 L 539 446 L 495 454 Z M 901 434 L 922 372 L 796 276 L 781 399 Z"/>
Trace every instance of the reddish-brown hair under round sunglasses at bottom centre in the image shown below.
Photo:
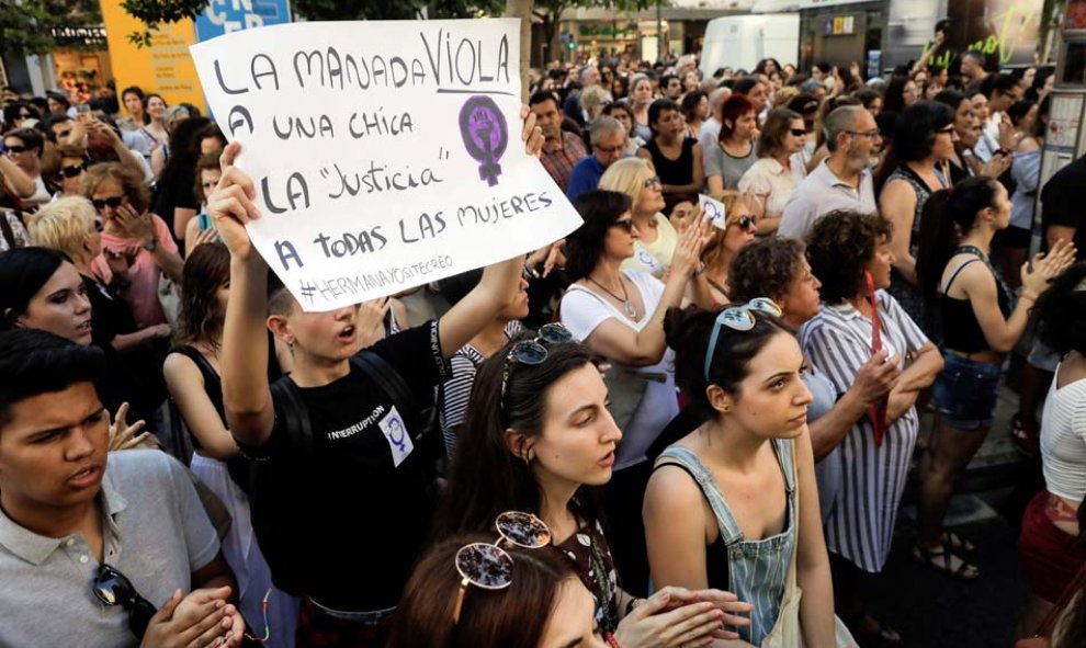
<path fill-rule="evenodd" d="M 453 611 L 461 576 L 456 552 L 486 535 L 449 538 L 437 544 L 416 566 L 396 609 L 388 648 L 535 648 L 557 604 L 563 584 L 576 579 L 573 561 L 552 547 L 506 547 L 513 559 L 512 579 L 502 590 L 467 586 L 460 621 Z"/>

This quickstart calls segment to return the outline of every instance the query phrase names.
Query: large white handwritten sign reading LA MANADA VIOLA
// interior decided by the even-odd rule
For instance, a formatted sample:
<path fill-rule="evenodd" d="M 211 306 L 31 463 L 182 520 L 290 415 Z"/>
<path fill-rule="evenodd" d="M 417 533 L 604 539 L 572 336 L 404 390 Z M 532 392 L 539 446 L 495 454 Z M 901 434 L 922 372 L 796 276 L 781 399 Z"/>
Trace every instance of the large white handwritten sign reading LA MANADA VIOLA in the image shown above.
<path fill-rule="evenodd" d="M 192 47 L 253 180 L 249 236 L 305 310 L 509 259 L 580 217 L 520 120 L 520 22 L 299 23 Z"/>

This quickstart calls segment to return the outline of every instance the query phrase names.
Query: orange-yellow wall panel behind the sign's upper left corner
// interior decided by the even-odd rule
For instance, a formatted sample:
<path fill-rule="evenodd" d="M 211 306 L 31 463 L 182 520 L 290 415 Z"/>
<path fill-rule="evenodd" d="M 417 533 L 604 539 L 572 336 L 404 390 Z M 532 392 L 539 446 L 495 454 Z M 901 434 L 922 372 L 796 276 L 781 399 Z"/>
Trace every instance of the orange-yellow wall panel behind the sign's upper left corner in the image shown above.
<path fill-rule="evenodd" d="M 120 0 L 101 0 L 101 4 L 117 93 L 139 86 L 144 92 L 161 94 L 168 105 L 186 102 L 206 113 L 196 68 L 189 56 L 189 46 L 196 42 L 193 22 L 163 25 L 151 32 L 150 47 L 136 47 L 128 42 L 128 34 L 144 30 L 144 24 L 128 15 Z"/>

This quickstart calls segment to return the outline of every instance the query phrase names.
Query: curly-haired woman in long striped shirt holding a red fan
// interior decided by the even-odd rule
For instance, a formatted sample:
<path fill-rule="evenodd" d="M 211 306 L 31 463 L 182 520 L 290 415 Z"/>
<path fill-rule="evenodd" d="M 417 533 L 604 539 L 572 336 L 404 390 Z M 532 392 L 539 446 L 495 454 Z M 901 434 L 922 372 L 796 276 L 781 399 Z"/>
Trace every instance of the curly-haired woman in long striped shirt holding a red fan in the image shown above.
<path fill-rule="evenodd" d="M 896 632 L 864 613 L 856 584 L 860 571 L 880 572 L 890 555 L 919 431 L 916 398 L 942 370 L 935 344 L 886 292 L 892 236 L 893 226 L 881 216 L 834 212 L 815 223 L 807 239 L 807 260 L 822 282 L 824 302 L 803 327 L 807 356 L 838 393 L 858 382 L 880 352 L 901 371 L 893 389 L 841 442 L 845 479 L 826 521 L 837 611 L 861 646 L 901 641 Z"/>

